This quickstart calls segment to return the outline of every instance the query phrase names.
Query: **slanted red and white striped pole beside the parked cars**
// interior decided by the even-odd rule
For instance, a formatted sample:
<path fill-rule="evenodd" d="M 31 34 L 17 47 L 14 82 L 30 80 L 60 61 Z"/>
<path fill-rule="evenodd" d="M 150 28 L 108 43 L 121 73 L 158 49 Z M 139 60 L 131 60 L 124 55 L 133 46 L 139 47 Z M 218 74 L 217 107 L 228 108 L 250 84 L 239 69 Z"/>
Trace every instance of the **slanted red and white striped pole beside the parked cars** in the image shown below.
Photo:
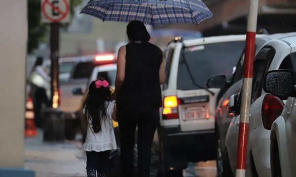
<path fill-rule="evenodd" d="M 244 60 L 244 78 L 242 87 L 242 100 L 240 107 L 240 123 L 238 134 L 238 147 L 235 177 L 246 176 L 246 157 L 249 135 L 250 101 L 253 80 L 253 64 L 255 53 L 256 27 L 258 14 L 258 0 L 249 0 L 249 13 L 247 24 L 246 51 Z"/>

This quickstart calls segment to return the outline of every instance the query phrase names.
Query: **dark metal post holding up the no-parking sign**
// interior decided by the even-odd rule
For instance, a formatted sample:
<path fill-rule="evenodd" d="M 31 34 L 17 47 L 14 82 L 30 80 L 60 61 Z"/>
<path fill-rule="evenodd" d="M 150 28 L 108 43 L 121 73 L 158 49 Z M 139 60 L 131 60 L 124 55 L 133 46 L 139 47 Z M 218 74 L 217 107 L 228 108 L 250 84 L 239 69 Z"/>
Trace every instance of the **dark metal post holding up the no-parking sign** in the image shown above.
<path fill-rule="evenodd" d="M 59 23 L 50 24 L 51 48 L 51 103 L 52 108 L 59 107 Z"/>

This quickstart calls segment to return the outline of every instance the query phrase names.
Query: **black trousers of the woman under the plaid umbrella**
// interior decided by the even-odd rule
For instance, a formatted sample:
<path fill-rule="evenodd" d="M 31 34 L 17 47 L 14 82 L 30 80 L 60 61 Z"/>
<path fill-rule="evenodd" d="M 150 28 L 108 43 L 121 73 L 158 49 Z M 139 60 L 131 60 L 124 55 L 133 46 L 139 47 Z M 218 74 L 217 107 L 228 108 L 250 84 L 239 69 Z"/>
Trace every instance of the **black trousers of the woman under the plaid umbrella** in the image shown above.
<path fill-rule="evenodd" d="M 159 123 L 158 107 L 117 106 L 121 166 L 124 177 L 134 176 L 135 130 L 138 126 L 138 177 L 149 177 L 151 147 Z"/>

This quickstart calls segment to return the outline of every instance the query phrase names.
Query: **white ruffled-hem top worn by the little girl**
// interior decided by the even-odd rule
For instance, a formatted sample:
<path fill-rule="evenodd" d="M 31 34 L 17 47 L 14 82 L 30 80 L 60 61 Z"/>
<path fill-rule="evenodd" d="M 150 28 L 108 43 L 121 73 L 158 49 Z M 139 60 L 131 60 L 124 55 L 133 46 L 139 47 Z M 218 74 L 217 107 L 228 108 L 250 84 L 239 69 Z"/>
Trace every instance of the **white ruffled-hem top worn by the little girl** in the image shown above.
<path fill-rule="evenodd" d="M 102 121 L 102 127 L 99 133 L 94 132 L 91 121 L 88 121 L 86 139 L 82 146 L 83 150 L 100 152 L 116 149 L 114 128 L 111 117 L 114 103 L 115 101 L 109 102 L 106 114 L 107 118 L 110 118 L 110 121 Z"/>

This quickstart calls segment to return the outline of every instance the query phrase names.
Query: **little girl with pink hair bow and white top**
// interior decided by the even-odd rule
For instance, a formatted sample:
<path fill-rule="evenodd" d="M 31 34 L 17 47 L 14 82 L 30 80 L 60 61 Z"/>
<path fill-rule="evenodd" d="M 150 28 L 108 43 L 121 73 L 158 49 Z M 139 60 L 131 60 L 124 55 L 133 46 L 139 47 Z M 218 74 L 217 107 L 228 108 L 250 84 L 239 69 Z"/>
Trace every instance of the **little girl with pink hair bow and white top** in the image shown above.
<path fill-rule="evenodd" d="M 89 85 L 83 111 L 87 119 L 87 135 L 82 148 L 86 151 L 87 177 L 107 177 L 109 155 L 116 148 L 112 124 L 112 91 L 106 80 Z"/>

